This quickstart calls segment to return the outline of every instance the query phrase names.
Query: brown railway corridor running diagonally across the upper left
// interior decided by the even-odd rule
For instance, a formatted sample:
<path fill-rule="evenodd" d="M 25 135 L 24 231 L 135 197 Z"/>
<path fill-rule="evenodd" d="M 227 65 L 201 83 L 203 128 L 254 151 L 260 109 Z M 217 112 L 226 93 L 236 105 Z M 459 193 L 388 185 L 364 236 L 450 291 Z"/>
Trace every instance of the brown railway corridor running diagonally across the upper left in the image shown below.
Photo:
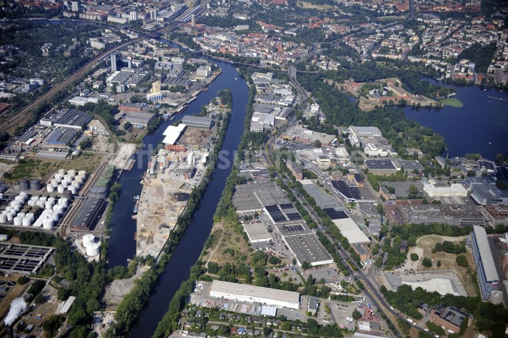
<path fill-rule="evenodd" d="M 156 39 L 158 37 L 161 37 L 162 35 L 172 32 L 176 28 L 178 28 L 179 25 L 181 25 L 183 22 L 190 20 L 189 14 L 196 14 L 199 13 L 201 10 L 201 6 L 198 5 L 194 7 L 193 9 L 189 9 L 188 11 L 184 12 L 180 18 L 176 19 L 173 23 L 161 27 L 159 29 L 154 30 L 153 32 L 141 34 L 138 38 L 132 39 L 126 42 L 119 43 L 113 47 L 110 47 L 103 51 L 102 53 L 98 54 L 91 60 L 89 60 L 86 64 L 81 66 L 78 70 L 76 70 L 74 73 L 72 73 L 67 79 L 65 79 L 63 82 L 55 85 L 50 90 L 48 90 L 45 94 L 37 98 L 34 102 L 30 103 L 28 106 L 23 108 L 21 111 L 16 112 L 15 116 L 11 116 L 11 118 L 4 120 L 0 122 L 0 129 L 1 130 L 14 130 L 19 125 L 22 125 L 29 117 L 31 112 L 36 109 L 39 105 L 50 101 L 60 90 L 66 89 L 68 86 L 70 86 L 74 81 L 77 81 L 81 79 L 89 70 L 93 69 L 98 63 L 100 63 L 102 60 L 104 60 L 106 57 L 109 56 L 112 52 L 115 52 L 125 46 L 128 46 L 130 44 L 143 41 L 145 39 Z"/>

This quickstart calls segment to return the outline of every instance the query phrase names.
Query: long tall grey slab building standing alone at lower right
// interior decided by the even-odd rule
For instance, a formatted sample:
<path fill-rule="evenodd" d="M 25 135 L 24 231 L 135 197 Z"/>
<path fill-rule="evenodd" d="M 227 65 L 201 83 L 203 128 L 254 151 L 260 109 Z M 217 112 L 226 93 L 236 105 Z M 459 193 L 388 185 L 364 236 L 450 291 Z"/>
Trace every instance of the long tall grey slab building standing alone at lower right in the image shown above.
<path fill-rule="evenodd" d="M 497 275 L 485 229 L 477 225 L 473 226 L 473 231 L 467 237 L 467 244 L 472 250 L 482 298 L 487 300 L 490 298 L 491 292 L 497 290 L 499 276 Z"/>

